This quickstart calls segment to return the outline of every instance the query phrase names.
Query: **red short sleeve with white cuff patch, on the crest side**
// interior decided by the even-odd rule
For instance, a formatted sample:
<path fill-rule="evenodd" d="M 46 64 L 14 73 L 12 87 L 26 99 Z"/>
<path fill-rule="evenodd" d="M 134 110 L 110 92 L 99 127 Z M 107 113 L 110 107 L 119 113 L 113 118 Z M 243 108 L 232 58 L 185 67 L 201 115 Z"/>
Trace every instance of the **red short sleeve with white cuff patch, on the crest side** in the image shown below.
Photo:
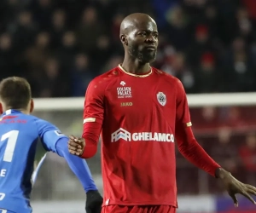
<path fill-rule="evenodd" d="M 191 126 L 189 105 L 187 95 L 183 88 L 183 84 L 178 80 L 177 82 L 177 99 L 176 99 L 176 123 Z"/>

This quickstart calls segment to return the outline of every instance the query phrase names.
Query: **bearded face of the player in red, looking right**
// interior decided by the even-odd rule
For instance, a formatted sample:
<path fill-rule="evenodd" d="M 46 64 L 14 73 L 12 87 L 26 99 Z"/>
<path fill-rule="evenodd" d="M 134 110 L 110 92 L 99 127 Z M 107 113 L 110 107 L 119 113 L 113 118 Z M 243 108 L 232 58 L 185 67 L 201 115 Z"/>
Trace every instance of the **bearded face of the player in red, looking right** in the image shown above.
<path fill-rule="evenodd" d="M 128 35 L 129 54 L 143 63 L 154 61 L 157 46 L 158 31 L 153 21 L 138 24 Z"/>

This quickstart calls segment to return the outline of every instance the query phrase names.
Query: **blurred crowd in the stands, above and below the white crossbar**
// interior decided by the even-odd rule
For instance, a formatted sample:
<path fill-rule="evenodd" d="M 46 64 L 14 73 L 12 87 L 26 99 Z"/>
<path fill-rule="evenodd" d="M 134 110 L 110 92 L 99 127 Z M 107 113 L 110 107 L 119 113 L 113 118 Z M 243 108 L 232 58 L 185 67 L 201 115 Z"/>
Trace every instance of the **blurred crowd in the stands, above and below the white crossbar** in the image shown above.
<path fill-rule="evenodd" d="M 84 96 L 92 78 L 122 62 L 119 25 L 135 12 L 158 24 L 154 66 L 188 93 L 256 91 L 255 0 L 1 0 L 0 78 L 26 77 L 34 97 Z M 256 185 L 255 108 L 193 108 L 191 117 L 207 153 Z M 99 152 L 93 165 L 100 174 Z M 217 192 L 216 181 L 201 174 L 177 153 L 179 193 Z"/>

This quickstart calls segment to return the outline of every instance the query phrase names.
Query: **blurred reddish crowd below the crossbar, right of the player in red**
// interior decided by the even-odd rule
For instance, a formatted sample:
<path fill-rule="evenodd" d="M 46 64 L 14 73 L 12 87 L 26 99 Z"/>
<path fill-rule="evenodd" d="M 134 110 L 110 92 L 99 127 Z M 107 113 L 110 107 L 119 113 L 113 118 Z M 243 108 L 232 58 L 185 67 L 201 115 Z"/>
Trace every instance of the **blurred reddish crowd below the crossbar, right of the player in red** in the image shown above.
<path fill-rule="evenodd" d="M 256 186 L 255 110 L 256 107 L 201 107 L 190 111 L 195 137 L 201 146 L 238 180 L 253 186 Z M 188 173 L 193 184 L 186 181 Z M 218 181 L 197 170 L 178 152 L 177 185 L 180 193 L 224 192 Z"/>

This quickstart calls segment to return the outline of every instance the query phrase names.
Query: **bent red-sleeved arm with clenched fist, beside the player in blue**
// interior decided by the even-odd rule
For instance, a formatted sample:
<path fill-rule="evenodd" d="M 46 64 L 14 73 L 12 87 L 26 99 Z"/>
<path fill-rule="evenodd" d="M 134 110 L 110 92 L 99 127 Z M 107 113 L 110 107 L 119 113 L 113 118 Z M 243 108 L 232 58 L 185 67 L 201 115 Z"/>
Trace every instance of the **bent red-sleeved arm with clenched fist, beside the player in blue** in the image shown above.
<path fill-rule="evenodd" d="M 84 128 L 82 138 L 70 138 L 69 152 L 81 158 L 91 158 L 96 154 L 104 116 L 104 88 L 92 80 L 84 100 Z"/>

